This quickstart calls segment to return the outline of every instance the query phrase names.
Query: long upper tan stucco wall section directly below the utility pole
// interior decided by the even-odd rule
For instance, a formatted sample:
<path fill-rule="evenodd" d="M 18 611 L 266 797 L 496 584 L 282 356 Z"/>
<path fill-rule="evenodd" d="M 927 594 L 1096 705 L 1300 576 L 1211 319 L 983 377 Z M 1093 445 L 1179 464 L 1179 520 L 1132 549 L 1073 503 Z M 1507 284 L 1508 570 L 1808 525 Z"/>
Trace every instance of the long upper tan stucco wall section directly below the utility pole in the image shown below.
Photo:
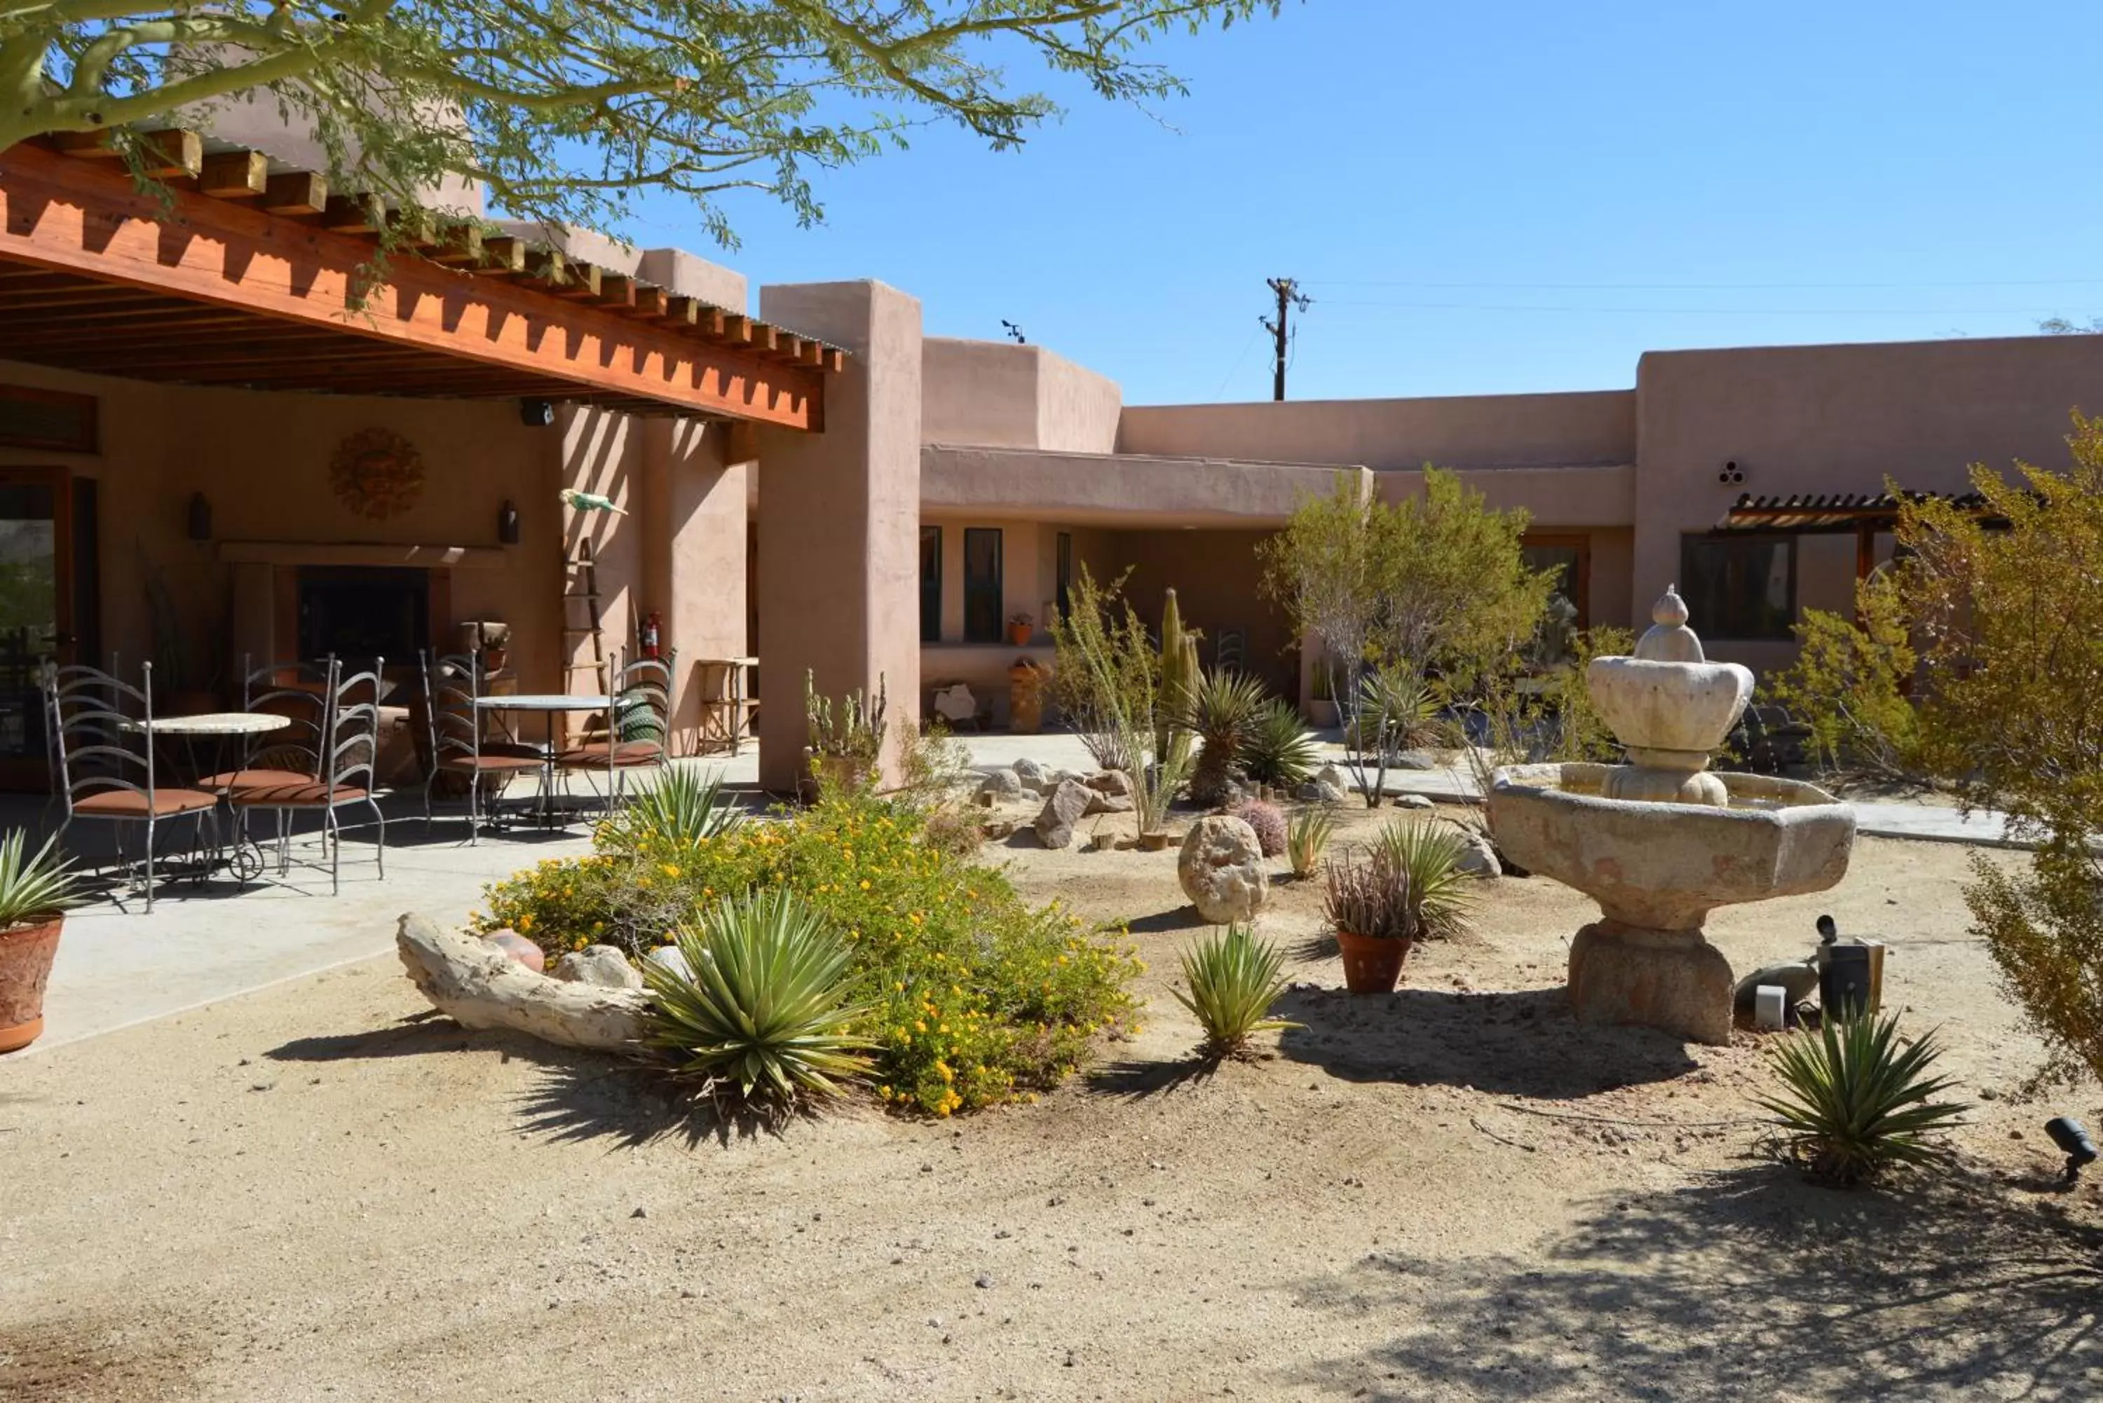
<path fill-rule="evenodd" d="M 1127 406 L 1119 452 L 1365 467 L 1634 463 L 1636 395 L 1287 400 Z"/>

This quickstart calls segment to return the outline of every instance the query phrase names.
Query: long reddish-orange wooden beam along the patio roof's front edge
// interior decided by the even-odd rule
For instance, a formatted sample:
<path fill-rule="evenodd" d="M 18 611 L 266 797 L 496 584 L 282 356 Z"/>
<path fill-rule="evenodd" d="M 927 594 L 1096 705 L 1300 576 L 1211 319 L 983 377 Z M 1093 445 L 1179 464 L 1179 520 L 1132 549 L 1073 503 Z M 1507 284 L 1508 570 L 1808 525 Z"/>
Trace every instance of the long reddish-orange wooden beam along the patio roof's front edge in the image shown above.
<path fill-rule="evenodd" d="M 0 151 L 0 261 L 34 263 L 343 337 L 423 347 L 526 383 L 654 400 L 789 429 L 822 425 L 822 377 L 549 299 L 503 278 L 391 259 L 358 303 L 364 238 L 273 219 L 242 200 L 132 189 L 124 170 L 40 145 Z M 324 212 L 326 219 L 326 212 Z M 406 374 L 406 391 L 416 377 Z"/>

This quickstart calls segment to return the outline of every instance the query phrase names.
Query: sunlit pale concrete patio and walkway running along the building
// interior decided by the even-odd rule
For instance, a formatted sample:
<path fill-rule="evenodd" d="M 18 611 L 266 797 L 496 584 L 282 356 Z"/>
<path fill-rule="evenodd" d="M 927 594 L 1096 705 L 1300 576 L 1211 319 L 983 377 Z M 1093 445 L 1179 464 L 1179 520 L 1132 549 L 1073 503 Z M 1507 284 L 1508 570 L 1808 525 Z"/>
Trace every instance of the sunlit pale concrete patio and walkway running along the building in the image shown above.
<path fill-rule="evenodd" d="M 974 766 L 993 770 L 1028 757 L 1052 768 L 1091 770 L 1087 747 L 1073 734 L 963 736 Z M 1325 757 L 1342 747 L 1325 745 Z M 747 749 L 736 759 L 690 761 L 721 770 L 734 787 L 757 785 L 759 759 Z M 1449 804 L 1474 804 L 1466 770 L 1396 770 L 1390 793 L 1422 793 Z M 751 793 L 753 804 L 763 799 Z M 1876 837 L 2013 846 L 1998 814 L 1960 816 L 1956 810 L 1914 804 L 1857 804 L 1859 831 Z M 38 829 L 32 804 L 0 808 L 0 820 Z M 387 879 L 372 865 L 370 833 L 351 833 L 343 854 L 343 894 L 328 894 L 328 873 L 294 869 L 292 877 L 267 875 L 246 890 L 231 881 L 204 888 L 162 888 L 154 915 L 137 896 L 95 900 L 72 913 L 44 999 L 46 1033 L 19 1056 L 109 1033 L 149 1018 L 166 1018 L 267 984 L 301 978 L 393 949 L 395 917 L 423 911 L 440 921 L 465 921 L 488 881 L 540 858 L 589 852 L 583 825 L 572 829 L 507 831 L 465 843 L 461 820 L 440 818 L 425 833 L 421 804 L 414 816 L 389 812 Z M 301 858 L 315 856 L 311 843 Z"/>

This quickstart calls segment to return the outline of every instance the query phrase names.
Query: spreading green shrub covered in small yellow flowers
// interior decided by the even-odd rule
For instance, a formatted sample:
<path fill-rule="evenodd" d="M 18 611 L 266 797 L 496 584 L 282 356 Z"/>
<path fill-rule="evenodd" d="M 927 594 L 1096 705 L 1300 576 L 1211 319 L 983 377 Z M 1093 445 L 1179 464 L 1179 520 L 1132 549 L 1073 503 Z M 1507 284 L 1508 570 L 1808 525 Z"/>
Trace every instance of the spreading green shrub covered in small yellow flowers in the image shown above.
<path fill-rule="evenodd" d="M 930 1115 L 1033 1096 L 1070 1075 L 1098 1031 L 1129 1022 L 1129 947 L 1058 902 L 1030 907 L 991 867 L 925 841 L 911 806 L 829 795 L 702 841 L 625 831 L 620 852 L 547 860 L 492 883 L 477 930 L 549 951 L 604 942 L 639 957 L 709 902 L 791 888 L 854 951 L 854 1003 L 877 1041 L 877 1094 Z"/>

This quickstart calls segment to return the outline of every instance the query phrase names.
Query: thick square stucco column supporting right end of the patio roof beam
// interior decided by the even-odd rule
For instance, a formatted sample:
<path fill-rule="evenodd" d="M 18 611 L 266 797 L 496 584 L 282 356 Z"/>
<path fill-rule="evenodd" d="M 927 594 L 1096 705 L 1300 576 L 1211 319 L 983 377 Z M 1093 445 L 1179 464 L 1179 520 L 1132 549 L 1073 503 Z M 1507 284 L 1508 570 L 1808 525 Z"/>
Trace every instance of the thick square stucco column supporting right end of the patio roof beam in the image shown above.
<path fill-rule="evenodd" d="M 890 692 L 885 780 L 919 726 L 921 309 L 881 282 L 759 290 L 759 316 L 835 341 L 824 429 L 759 429 L 759 782 L 803 776 L 803 675 Z"/>

